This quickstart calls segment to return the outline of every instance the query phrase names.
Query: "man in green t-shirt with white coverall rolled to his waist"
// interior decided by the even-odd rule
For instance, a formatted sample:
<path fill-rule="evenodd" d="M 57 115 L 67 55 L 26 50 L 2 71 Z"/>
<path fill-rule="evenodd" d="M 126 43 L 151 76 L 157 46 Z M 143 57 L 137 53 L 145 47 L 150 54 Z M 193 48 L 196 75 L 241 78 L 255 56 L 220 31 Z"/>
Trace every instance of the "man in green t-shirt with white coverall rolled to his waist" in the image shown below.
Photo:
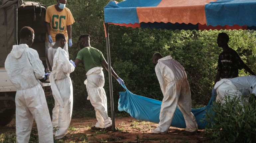
<path fill-rule="evenodd" d="M 83 61 L 86 70 L 87 79 L 84 81 L 88 93 L 87 100 L 90 100 L 91 105 L 96 111 L 97 123 L 92 126 L 93 130 L 110 131 L 112 129 L 112 121 L 107 115 L 107 97 L 104 86 L 104 74 L 101 64 L 108 70 L 108 64 L 103 54 L 96 48 L 90 46 L 89 34 L 84 34 L 79 37 L 80 51 L 78 52 L 75 65 Z M 119 84 L 124 84 L 124 81 L 111 68 L 111 73 Z"/>

